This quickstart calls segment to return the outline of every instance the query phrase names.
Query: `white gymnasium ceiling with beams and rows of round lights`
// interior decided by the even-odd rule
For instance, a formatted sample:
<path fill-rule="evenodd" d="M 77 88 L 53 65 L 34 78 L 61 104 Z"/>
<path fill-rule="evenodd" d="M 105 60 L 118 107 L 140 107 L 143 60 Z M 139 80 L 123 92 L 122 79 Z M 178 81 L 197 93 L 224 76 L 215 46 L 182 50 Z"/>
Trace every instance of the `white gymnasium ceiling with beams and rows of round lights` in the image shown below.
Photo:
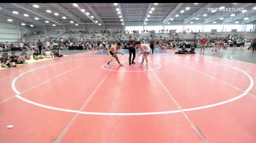
<path fill-rule="evenodd" d="M 37 4 L 39 7 L 33 7 Z M 77 5 L 76 5 L 77 4 Z M 26 26 L 154 26 L 181 24 L 255 24 L 254 3 L 1 3 L 0 17 Z M 154 8 L 153 8 L 154 7 Z M 188 8 L 189 7 L 189 8 Z M 207 8 L 244 8 L 247 11 L 211 12 Z M 84 11 L 82 12 L 81 10 Z M 46 12 L 51 10 L 51 12 Z M 120 14 L 118 14 L 118 11 Z M 184 12 L 181 12 L 184 10 Z M 13 11 L 18 14 L 12 13 Z M 151 13 L 149 13 L 151 11 Z M 89 12 L 86 14 L 86 12 Z M 58 13 L 54 14 L 54 13 Z M 29 16 L 25 17 L 24 14 Z M 206 15 L 207 14 L 207 15 Z M 231 14 L 235 16 L 231 17 Z M 148 18 L 148 15 L 150 17 Z M 178 17 L 176 17 L 178 15 Z M 93 16 L 93 17 L 91 17 Z M 62 17 L 66 17 L 64 19 Z M 119 18 L 120 17 L 120 18 Z M 35 20 L 34 18 L 39 18 Z M 146 20 L 147 18 L 147 20 Z M 220 19 L 221 18 L 221 19 Z M 224 19 L 222 19 L 224 18 Z M 248 18 L 244 20 L 244 18 Z M 121 21 L 123 20 L 123 21 Z M 49 21 L 49 23 L 45 23 Z M 74 23 L 70 23 L 73 21 Z M 238 22 L 237 22 L 238 21 Z M 122 25 L 122 23 L 124 25 Z"/>

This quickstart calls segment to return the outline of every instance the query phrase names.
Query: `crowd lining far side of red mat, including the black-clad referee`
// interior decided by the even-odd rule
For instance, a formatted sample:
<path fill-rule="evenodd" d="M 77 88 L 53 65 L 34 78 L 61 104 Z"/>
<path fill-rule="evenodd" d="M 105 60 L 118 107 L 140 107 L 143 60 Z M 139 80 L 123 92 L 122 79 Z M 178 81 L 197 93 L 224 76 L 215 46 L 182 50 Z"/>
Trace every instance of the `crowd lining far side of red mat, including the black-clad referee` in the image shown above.
<path fill-rule="evenodd" d="M 75 31 L 67 31 L 67 33 L 73 33 Z M 109 31 L 101 31 L 103 33 L 107 33 Z M 123 32 L 123 31 L 116 31 Z M 85 33 L 86 31 L 78 31 L 78 33 Z M 69 47 L 80 47 L 80 50 L 109 50 L 111 46 L 116 45 L 116 43 L 120 43 L 124 45 L 124 48 L 129 49 L 129 57 L 134 55 L 135 58 L 135 50 L 129 47 L 129 45 L 135 45 L 135 42 L 140 41 L 142 43 L 147 43 L 151 48 L 151 53 L 154 53 L 154 47 L 159 47 L 162 50 L 167 49 L 181 49 L 180 51 L 187 53 L 195 53 L 195 48 L 199 47 L 201 52 L 204 53 L 206 47 L 212 47 L 212 51 L 219 50 L 227 50 L 227 47 L 244 47 L 246 42 L 250 42 L 251 46 L 248 49 L 252 48 L 252 51 L 256 50 L 256 39 L 246 39 L 246 36 L 241 35 L 228 35 L 225 39 L 219 38 L 215 40 L 211 40 L 210 36 L 207 34 L 201 35 L 195 34 L 194 41 L 187 42 L 186 40 L 174 39 L 173 37 L 170 39 L 163 38 L 162 35 L 159 37 L 151 34 L 147 38 L 138 39 L 138 37 L 134 37 L 132 39 L 129 34 L 125 36 L 129 37 L 129 41 L 122 39 L 116 40 L 79 40 L 79 39 L 64 39 L 61 42 L 56 42 L 55 39 L 45 39 L 45 41 L 41 42 L 40 39 L 37 42 L 2 42 L 0 43 L 0 52 L 4 52 L 1 54 L 1 67 L 15 67 L 16 64 L 26 64 L 27 60 L 29 60 L 30 56 L 26 54 L 26 51 L 34 51 L 33 58 L 36 60 L 42 58 L 50 58 L 53 56 L 61 57 L 60 50 L 69 50 Z M 137 35 L 138 36 L 138 35 Z M 157 37 L 157 38 L 156 38 Z M 238 46 L 239 45 L 239 46 Z M 15 55 L 15 52 L 9 53 L 12 47 L 20 47 L 22 53 L 20 55 Z M 187 51 L 186 48 L 190 48 L 190 51 Z M 52 50 L 52 51 L 51 51 Z M 15 58 L 17 56 L 17 58 Z M 129 63 L 134 63 L 134 58 L 129 58 Z"/>

